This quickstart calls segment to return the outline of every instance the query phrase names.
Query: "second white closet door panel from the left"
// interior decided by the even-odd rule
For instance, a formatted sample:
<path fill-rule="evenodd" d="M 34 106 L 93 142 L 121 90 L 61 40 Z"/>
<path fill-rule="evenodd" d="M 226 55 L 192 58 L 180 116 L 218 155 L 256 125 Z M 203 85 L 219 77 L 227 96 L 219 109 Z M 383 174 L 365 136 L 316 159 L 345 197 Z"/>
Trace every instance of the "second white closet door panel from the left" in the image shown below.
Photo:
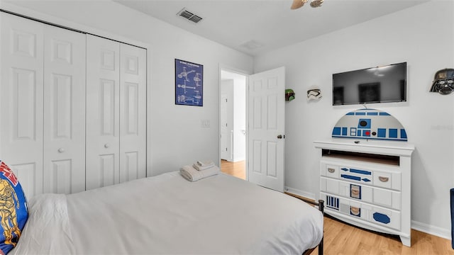
<path fill-rule="evenodd" d="M 45 26 L 44 192 L 85 190 L 85 35 Z"/>

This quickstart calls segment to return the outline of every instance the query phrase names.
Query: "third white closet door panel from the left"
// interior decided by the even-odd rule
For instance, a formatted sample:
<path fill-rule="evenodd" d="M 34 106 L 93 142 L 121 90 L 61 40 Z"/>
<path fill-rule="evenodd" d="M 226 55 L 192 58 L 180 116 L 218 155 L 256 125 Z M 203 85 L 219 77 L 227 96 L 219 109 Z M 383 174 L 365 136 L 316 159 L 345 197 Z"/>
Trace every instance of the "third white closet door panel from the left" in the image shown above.
<path fill-rule="evenodd" d="M 87 35 L 87 190 L 119 182 L 118 42 Z"/>

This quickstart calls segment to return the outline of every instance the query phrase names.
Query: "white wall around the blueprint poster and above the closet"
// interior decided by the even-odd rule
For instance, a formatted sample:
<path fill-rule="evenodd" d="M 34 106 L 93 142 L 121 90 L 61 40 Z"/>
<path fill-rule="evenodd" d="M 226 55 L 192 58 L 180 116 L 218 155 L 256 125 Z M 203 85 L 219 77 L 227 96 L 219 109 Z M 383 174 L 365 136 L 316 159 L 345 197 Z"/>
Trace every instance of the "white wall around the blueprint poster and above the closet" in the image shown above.
<path fill-rule="evenodd" d="M 219 65 L 252 71 L 253 58 L 112 1 L 2 1 L 2 8 L 106 37 L 150 45 L 148 176 L 218 159 Z M 90 31 L 89 31 L 90 32 Z M 175 105 L 175 58 L 204 65 L 204 106 Z M 89 111 L 89 110 L 88 110 Z M 209 128 L 201 128 L 209 120 Z"/>

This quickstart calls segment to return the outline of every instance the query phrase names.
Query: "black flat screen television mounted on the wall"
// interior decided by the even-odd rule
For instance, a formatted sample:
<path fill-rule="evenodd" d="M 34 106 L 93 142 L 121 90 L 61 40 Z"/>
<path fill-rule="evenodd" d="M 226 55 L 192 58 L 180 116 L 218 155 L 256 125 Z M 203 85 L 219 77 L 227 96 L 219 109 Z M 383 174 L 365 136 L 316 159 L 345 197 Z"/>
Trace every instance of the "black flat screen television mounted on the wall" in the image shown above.
<path fill-rule="evenodd" d="M 406 62 L 333 74 L 333 106 L 406 102 Z"/>

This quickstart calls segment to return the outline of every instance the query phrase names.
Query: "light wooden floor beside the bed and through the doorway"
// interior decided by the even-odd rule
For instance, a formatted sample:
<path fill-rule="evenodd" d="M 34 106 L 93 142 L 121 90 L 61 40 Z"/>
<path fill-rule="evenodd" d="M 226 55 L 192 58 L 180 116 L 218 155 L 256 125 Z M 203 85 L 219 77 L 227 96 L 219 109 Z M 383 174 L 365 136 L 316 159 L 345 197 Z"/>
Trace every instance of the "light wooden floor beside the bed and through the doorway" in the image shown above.
<path fill-rule="evenodd" d="M 221 161 L 221 171 L 245 179 L 245 162 Z M 296 196 L 287 193 L 291 196 Z M 298 196 L 297 196 L 298 197 Z M 323 254 L 404 254 L 448 255 L 454 254 L 450 240 L 411 229 L 411 247 L 404 246 L 399 237 L 377 234 L 344 222 L 324 217 Z M 319 254 L 318 248 L 311 255 Z"/>

